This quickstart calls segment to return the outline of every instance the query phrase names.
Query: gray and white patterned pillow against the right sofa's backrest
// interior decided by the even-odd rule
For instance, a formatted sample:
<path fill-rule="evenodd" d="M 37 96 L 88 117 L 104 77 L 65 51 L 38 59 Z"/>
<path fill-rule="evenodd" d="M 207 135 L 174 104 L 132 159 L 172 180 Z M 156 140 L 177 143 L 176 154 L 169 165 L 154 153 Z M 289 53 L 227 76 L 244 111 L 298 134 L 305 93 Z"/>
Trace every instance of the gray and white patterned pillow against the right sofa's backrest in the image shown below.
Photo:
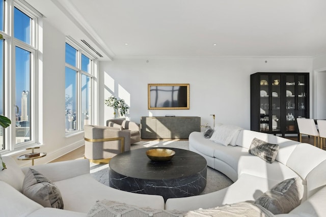
<path fill-rule="evenodd" d="M 254 138 L 251 142 L 249 153 L 271 164 L 275 161 L 279 148 L 278 144 L 271 144 Z"/>

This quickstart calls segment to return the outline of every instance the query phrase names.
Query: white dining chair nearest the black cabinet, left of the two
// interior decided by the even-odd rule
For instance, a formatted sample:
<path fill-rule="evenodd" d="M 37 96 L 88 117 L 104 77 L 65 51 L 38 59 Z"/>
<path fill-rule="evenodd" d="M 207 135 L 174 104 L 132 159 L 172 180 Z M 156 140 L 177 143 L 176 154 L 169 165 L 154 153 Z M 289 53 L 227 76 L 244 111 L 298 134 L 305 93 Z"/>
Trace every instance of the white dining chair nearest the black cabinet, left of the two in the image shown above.
<path fill-rule="evenodd" d="M 313 136 L 314 146 L 316 146 L 316 139 L 317 139 L 317 147 L 318 147 L 319 133 L 316 128 L 315 120 L 310 118 L 296 118 L 296 122 L 297 122 L 297 127 L 299 129 L 300 142 L 302 141 L 302 134 Z"/>

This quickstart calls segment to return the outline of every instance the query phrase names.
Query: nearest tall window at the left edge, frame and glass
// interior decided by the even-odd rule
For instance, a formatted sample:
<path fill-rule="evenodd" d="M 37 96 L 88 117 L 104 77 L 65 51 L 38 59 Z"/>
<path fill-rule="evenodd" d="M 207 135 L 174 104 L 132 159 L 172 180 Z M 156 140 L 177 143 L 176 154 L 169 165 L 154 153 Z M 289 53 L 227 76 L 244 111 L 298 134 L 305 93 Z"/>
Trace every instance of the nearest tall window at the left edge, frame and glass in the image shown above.
<path fill-rule="evenodd" d="M 38 16 L 18 1 L 0 0 L 0 114 L 12 122 L 0 127 L 0 151 L 37 142 Z"/>

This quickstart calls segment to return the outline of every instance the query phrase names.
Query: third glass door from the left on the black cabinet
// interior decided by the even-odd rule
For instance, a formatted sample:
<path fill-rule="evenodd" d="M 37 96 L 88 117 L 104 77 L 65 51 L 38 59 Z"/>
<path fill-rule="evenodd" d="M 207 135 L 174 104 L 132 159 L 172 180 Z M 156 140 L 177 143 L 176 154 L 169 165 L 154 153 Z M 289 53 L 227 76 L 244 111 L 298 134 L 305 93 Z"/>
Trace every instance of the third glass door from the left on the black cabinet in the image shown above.
<path fill-rule="evenodd" d="M 295 75 L 286 75 L 286 131 L 296 131 L 296 79 Z"/>

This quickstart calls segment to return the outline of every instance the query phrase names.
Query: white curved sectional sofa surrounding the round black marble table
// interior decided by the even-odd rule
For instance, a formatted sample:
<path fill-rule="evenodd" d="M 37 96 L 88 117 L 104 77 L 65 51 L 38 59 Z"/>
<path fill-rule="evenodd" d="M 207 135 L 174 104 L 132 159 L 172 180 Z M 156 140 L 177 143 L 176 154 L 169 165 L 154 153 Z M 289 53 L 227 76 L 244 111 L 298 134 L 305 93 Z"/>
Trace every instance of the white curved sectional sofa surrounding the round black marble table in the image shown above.
<path fill-rule="evenodd" d="M 254 138 L 279 144 L 274 163 L 266 163 L 248 152 Z M 302 180 L 304 199 L 290 213 L 277 216 L 326 216 L 326 151 L 310 144 L 248 130 L 239 131 L 233 139 L 235 146 L 224 146 L 205 139 L 203 133 L 193 132 L 189 136 L 189 149 L 204 156 L 209 167 L 223 172 L 234 183 L 220 191 L 170 198 L 166 203 L 161 196 L 107 187 L 91 177 L 88 160 L 75 160 L 32 167 L 53 181 L 63 198 L 64 210 L 45 208 L 21 193 L 29 168 L 19 168 L 12 158 L 3 157 L 7 169 L 0 171 L 0 216 L 87 216 L 95 202 L 103 199 L 165 211 L 198 210 L 256 200 L 275 184 L 292 177 Z"/>

